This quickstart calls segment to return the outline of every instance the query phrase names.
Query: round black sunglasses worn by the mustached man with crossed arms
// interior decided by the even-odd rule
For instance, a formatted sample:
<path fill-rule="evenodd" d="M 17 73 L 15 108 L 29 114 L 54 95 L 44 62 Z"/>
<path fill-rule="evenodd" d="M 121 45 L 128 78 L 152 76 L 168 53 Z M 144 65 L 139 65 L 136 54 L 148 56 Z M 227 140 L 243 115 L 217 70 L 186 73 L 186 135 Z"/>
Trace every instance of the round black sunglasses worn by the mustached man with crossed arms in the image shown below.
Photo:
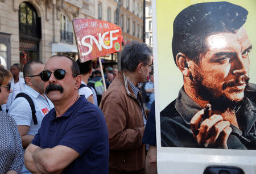
<path fill-rule="evenodd" d="M 53 73 L 53 75 L 54 75 L 54 77 L 56 78 L 56 79 L 58 79 L 58 80 L 61 80 L 61 79 L 63 79 L 64 77 L 65 77 L 65 74 L 66 73 L 70 73 L 70 72 L 68 72 L 68 71 L 65 71 L 65 70 L 63 70 L 63 69 L 57 69 L 57 70 L 55 70 L 55 71 L 47 71 L 47 70 L 45 70 L 45 71 L 42 71 L 40 74 L 38 74 L 38 75 L 40 75 L 40 78 L 44 81 L 44 82 L 47 82 L 48 80 L 49 80 L 49 78 L 51 77 L 51 74 Z M 73 73 L 71 73 L 71 74 L 73 74 Z M 77 77 L 77 74 L 73 74 L 73 75 L 75 75 L 75 77 Z M 36 75 L 34 75 L 34 76 L 36 76 Z"/>

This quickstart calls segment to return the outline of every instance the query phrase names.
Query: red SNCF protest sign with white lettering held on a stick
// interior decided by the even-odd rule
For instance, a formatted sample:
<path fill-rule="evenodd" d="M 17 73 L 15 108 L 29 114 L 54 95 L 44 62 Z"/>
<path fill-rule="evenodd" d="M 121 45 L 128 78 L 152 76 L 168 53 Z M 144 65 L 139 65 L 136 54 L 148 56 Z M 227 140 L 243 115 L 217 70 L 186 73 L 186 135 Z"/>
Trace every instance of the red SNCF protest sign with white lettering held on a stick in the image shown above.
<path fill-rule="evenodd" d="M 98 19 L 74 19 L 73 28 L 81 62 L 121 50 L 122 30 L 113 23 Z"/>

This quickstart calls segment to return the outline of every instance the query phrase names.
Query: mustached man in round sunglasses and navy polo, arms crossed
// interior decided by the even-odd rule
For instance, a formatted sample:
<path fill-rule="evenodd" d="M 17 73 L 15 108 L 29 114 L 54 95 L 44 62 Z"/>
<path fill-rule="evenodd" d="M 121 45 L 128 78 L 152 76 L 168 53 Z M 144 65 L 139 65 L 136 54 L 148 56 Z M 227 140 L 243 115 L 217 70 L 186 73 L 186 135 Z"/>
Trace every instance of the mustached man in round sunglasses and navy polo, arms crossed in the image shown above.
<path fill-rule="evenodd" d="M 76 61 L 52 56 L 40 73 L 52 109 L 24 154 L 32 173 L 108 173 L 108 129 L 100 108 L 79 95 Z"/>

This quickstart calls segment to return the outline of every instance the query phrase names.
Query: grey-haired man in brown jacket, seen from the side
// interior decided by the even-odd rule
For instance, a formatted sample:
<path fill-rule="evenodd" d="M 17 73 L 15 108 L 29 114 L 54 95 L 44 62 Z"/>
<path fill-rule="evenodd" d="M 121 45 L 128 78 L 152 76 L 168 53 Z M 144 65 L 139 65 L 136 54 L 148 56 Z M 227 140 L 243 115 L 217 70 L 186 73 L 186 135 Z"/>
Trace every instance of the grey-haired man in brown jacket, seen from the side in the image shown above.
<path fill-rule="evenodd" d="M 121 72 L 102 96 L 100 108 L 109 130 L 109 173 L 144 173 L 145 145 L 142 145 L 146 114 L 138 83 L 152 67 L 152 51 L 132 41 L 121 54 Z"/>

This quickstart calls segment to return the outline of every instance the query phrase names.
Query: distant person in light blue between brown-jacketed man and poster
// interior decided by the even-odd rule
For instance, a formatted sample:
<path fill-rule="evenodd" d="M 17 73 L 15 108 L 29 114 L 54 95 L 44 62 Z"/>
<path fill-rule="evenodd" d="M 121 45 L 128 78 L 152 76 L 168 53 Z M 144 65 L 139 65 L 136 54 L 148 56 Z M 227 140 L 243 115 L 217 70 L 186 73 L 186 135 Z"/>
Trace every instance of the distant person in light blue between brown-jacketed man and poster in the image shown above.
<path fill-rule="evenodd" d="M 145 84 L 145 91 L 148 97 L 147 109 L 151 108 L 152 102 L 155 100 L 154 73 L 150 73 L 150 81 Z"/>

